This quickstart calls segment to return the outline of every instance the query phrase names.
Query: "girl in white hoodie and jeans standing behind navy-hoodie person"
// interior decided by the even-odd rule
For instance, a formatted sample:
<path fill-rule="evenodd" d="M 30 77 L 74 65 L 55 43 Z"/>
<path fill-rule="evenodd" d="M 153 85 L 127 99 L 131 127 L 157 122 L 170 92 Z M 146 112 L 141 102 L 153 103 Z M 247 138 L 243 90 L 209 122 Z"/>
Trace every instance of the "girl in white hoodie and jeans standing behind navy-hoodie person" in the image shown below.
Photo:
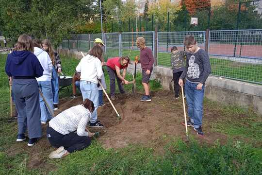
<path fill-rule="evenodd" d="M 33 39 L 34 54 L 42 65 L 44 72 L 43 76 L 36 78 L 39 89 L 44 95 L 48 106 L 45 104 L 44 99 L 39 96 L 40 108 L 41 108 L 41 123 L 46 124 L 48 120 L 53 116 L 53 94 L 51 86 L 51 73 L 52 73 L 52 61 L 49 54 L 42 50 L 42 43 L 39 39 Z M 49 111 L 49 109 L 51 111 Z"/>

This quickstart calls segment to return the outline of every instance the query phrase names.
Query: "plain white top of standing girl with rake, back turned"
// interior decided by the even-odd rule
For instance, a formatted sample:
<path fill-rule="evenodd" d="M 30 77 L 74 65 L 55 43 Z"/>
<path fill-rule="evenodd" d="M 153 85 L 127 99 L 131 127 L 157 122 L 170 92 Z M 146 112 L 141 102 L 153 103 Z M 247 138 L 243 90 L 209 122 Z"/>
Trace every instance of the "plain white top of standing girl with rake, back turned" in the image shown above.
<path fill-rule="evenodd" d="M 101 79 L 103 75 L 101 61 L 89 54 L 81 59 L 76 67 L 76 71 L 81 72 L 81 80 L 90 81 L 95 84 L 98 84 L 98 79 Z"/>

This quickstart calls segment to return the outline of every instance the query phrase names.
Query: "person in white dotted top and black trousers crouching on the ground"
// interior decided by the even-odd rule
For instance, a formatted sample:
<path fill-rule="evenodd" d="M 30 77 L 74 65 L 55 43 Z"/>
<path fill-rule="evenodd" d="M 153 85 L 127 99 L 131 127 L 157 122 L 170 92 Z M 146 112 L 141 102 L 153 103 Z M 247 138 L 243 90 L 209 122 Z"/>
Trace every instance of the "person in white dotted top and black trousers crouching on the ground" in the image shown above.
<path fill-rule="evenodd" d="M 65 157 L 91 144 L 90 138 L 94 133 L 89 132 L 85 127 L 94 109 L 93 102 L 85 99 L 82 105 L 66 109 L 49 122 L 48 140 L 52 146 L 58 148 L 50 153 L 49 158 Z"/>

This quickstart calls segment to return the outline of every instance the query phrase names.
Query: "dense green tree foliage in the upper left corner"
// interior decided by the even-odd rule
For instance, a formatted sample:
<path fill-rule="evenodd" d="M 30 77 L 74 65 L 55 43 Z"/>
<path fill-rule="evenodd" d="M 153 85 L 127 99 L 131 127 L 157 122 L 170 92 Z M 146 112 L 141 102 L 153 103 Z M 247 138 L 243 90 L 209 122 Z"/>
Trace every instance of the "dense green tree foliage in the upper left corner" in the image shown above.
<path fill-rule="evenodd" d="M 0 0 L 0 30 L 16 40 L 21 34 L 50 38 L 55 46 L 94 16 L 94 0 Z"/>

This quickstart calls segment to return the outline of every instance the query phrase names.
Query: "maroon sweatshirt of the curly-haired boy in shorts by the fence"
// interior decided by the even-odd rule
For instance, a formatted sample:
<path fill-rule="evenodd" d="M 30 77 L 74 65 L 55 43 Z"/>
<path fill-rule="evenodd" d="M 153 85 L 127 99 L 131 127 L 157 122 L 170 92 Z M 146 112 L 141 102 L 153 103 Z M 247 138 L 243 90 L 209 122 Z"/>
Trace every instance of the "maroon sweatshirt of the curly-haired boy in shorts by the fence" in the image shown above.
<path fill-rule="evenodd" d="M 148 47 L 140 50 L 140 63 L 143 70 L 151 70 L 154 64 L 152 50 Z"/>

